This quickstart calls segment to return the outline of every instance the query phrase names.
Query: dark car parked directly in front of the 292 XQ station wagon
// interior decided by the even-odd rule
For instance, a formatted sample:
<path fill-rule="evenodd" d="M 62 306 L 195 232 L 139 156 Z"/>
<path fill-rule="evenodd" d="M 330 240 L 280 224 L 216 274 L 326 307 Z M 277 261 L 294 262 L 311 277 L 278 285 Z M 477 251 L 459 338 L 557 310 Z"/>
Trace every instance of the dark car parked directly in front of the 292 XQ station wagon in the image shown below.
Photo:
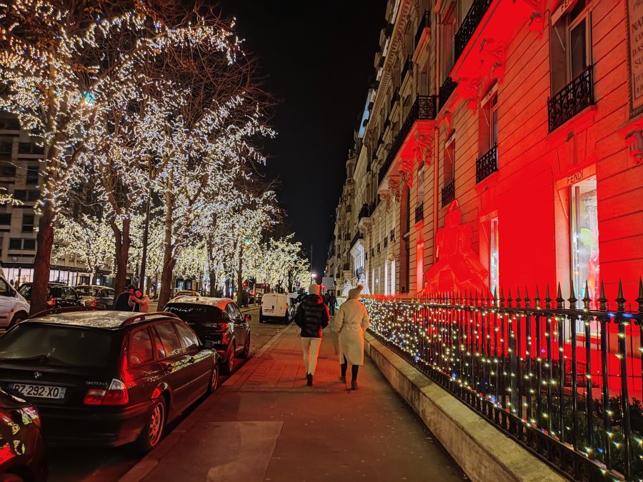
<path fill-rule="evenodd" d="M 164 311 L 186 321 L 203 340 L 214 343 L 225 373 L 234 369 L 234 358 L 250 354 L 250 315 L 241 315 L 230 298 L 183 296 L 170 301 Z"/>

